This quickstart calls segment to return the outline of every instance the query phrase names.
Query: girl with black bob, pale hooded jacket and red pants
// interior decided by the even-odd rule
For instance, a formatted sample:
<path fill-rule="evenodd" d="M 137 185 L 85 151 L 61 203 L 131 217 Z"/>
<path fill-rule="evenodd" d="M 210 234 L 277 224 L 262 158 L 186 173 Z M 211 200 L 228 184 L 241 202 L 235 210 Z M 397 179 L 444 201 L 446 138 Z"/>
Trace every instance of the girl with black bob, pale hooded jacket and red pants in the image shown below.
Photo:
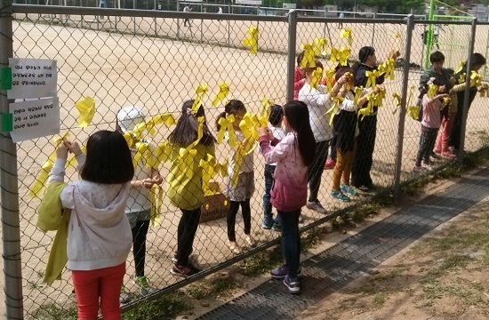
<path fill-rule="evenodd" d="M 119 293 L 125 260 L 131 250 L 129 220 L 124 213 L 134 167 L 131 150 L 119 132 L 93 133 L 86 160 L 78 143 L 63 142 L 48 183 L 63 182 L 68 151 L 76 156 L 81 180 L 60 191 L 63 208 L 71 209 L 68 268 L 73 273 L 79 319 L 121 319 Z"/>

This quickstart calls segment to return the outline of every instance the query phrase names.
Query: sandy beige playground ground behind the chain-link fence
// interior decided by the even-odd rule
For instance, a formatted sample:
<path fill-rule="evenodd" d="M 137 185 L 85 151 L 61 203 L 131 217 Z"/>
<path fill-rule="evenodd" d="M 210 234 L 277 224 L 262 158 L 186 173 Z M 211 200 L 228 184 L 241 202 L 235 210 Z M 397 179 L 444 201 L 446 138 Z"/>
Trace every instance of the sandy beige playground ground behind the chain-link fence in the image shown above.
<path fill-rule="evenodd" d="M 72 17 L 77 26 L 84 28 L 63 28 L 60 25 L 33 23 L 25 19 L 25 16 L 17 18 L 20 20 L 13 23 L 14 56 L 58 61 L 61 132 L 69 132 L 75 140 L 84 142 L 94 131 L 114 128 L 117 110 L 127 105 L 141 106 L 148 116 L 162 112 L 172 112 L 178 116 L 177 110 L 182 101 L 192 98 L 196 86 L 204 82 L 210 88 L 204 105 L 207 109 L 207 120 L 211 124 L 223 109 L 222 104 L 217 108 L 211 107 L 211 100 L 222 81 L 230 87 L 229 97 L 243 100 L 251 111 L 257 112 L 261 109 L 263 97 L 277 103 L 285 103 L 286 23 L 261 21 L 261 52 L 253 56 L 240 47 L 250 25 L 250 22 L 246 21 L 193 20 L 191 28 L 184 28 L 182 21 L 172 19 L 123 18 L 97 22 L 92 17 L 85 17 L 82 24 L 80 19 Z M 51 17 L 42 17 L 39 22 L 50 19 Z M 378 56 L 385 57 L 392 49 L 404 48 L 404 26 L 376 25 L 373 28 L 372 25 L 351 24 L 349 27 L 353 30 L 352 52 L 357 52 L 365 44 L 373 44 L 379 52 Z M 106 31 L 97 28 L 105 28 Z M 339 29 L 329 28 L 325 24 L 301 23 L 298 30 L 297 51 L 300 50 L 301 43 L 311 42 L 316 37 L 328 37 L 335 46 L 347 44 L 345 39 L 340 38 Z M 422 26 L 418 26 L 415 33 L 421 35 L 421 30 Z M 469 28 L 463 26 L 457 29 L 455 36 L 458 43 L 464 43 L 467 30 Z M 138 36 L 121 33 L 134 31 Z M 155 33 L 157 37 L 154 37 Z M 397 33 L 402 35 L 400 40 L 395 36 Z M 485 44 L 485 35 L 481 34 L 478 40 L 480 41 L 477 41 L 477 45 Z M 412 48 L 413 61 L 419 60 L 420 62 L 416 63 L 421 63 L 421 38 L 413 43 Z M 453 48 L 453 56 L 458 57 L 456 60 L 463 59 L 464 55 L 461 52 Z M 394 112 L 396 108 L 390 93 L 401 92 L 401 75 L 402 71 L 398 69 L 396 79 L 386 83 L 389 94 L 379 116 L 373 179 L 381 188 L 390 187 L 393 183 L 399 116 L 398 112 Z M 409 85 L 416 85 L 419 76 L 418 70 L 413 68 L 409 74 Z M 92 96 L 96 100 L 97 113 L 92 125 L 81 129 L 76 124 L 77 113 L 74 104 L 84 96 Z M 470 110 L 469 150 L 479 148 L 485 141 L 483 138 L 486 117 L 485 101 L 483 103 L 483 100 L 477 97 Z M 168 132 L 169 129 L 162 128 L 151 139 L 156 142 L 164 140 Z M 45 301 L 59 305 L 67 301 L 74 302 L 68 271 L 64 273 L 63 280 L 52 287 L 41 284 L 44 261 L 47 260 L 53 235 L 44 235 L 35 228 L 35 210 L 39 199 L 28 196 L 29 186 L 47 156 L 52 153 L 51 138 L 45 137 L 18 144 L 22 273 L 26 297 L 24 306 L 27 313 Z M 419 123 L 406 118 L 402 180 L 408 179 L 412 174 L 413 156 L 418 139 Z M 222 161 L 229 156 L 229 149 L 219 146 L 217 154 Z M 164 164 L 161 168 L 164 176 L 167 170 L 168 164 Z M 265 242 L 278 234 L 264 232 L 261 229 L 261 196 L 264 188 L 261 172 L 263 162 L 257 153 L 257 191 L 252 199 L 253 235 L 259 241 Z M 330 212 L 333 212 L 344 204 L 338 204 L 327 196 L 331 174 L 332 172 L 325 171 L 323 175 L 320 200 Z M 76 172 L 73 170 L 68 170 L 68 175 L 76 179 Z M 360 196 L 359 200 L 365 199 L 365 196 L 367 195 Z M 307 209 L 304 210 L 304 215 L 306 223 L 320 218 L 317 213 Z M 169 259 L 176 245 L 175 234 L 179 218 L 180 212 L 171 207 L 165 199 L 161 225 L 151 228 L 148 234 L 147 275 L 152 283 L 160 288 L 180 280 L 168 271 L 171 268 Z M 238 242 L 242 242 L 242 223 L 239 219 L 236 223 L 239 226 Z M 197 231 L 194 251 L 201 267 L 210 267 L 233 256 L 225 246 L 225 234 L 226 221 L 223 219 L 201 225 Z M 128 265 L 126 282 L 128 289 L 134 290 L 129 281 L 133 273 L 132 257 Z"/>

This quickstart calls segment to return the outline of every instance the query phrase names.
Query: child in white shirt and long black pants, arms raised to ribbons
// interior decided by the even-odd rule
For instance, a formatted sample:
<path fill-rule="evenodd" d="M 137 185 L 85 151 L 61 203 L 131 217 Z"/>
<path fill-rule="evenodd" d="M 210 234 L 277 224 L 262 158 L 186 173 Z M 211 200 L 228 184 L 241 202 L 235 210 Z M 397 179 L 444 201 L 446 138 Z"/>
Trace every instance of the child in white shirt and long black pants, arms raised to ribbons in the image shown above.
<path fill-rule="evenodd" d="M 332 92 L 325 93 L 325 86 L 319 85 L 318 89 L 312 85 L 312 74 L 318 68 L 323 68 L 323 64 L 318 60 L 315 66 L 306 66 L 304 75 L 306 83 L 299 92 L 299 100 L 306 103 L 309 109 L 309 125 L 316 139 L 316 156 L 314 161 L 308 167 L 309 179 L 309 199 L 306 207 L 310 210 L 326 214 L 325 207 L 317 199 L 319 187 L 321 186 L 321 176 L 325 170 L 326 158 L 328 156 L 328 147 L 333 139 L 333 128 L 329 124 L 329 117 L 325 113 L 333 105 L 332 97 L 340 91 L 341 85 L 333 85 Z M 342 83 L 342 82 L 341 82 Z"/>

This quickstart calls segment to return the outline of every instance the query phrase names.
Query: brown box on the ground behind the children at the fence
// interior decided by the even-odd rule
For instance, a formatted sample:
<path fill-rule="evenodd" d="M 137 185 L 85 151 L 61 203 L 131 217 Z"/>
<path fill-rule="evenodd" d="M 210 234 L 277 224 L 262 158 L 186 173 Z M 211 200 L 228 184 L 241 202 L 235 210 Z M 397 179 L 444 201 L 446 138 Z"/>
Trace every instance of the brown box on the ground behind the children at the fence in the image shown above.
<path fill-rule="evenodd" d="M 219 183 L 209 182 L 209 189 L 205 190 L 199 223 L 226 217 L 228 207 L 228 198 L 222 194 Z"/>

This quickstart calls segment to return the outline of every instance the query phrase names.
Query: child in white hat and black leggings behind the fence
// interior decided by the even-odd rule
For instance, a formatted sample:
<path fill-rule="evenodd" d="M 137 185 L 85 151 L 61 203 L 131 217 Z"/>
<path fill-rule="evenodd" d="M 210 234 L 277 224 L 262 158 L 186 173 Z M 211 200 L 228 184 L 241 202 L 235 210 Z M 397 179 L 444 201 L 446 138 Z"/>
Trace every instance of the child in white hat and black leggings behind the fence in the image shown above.
<path fill-rule="evenodd" d="M 121 133 L 132 132 L 137 124 L 144 123 L 144 115 L 138 107 L 125 107 L 119 110 L 116 118 L 116 130 Z M 148 143 L 145 140 L 134 141 Z M 148 144 L 150 150 L 154 150 L 152 143 Z M 136 155 L 137 149 L 132 146 L 132 157 Z M 151 213 L 151 196 L 149 190 L 154 184 L 160 185 L 163 178 L 158 172 L 158 168 L 152 168 L 142 158 L 134 167 L 134 178 L 131 181 L 131 191 L 127 200 L 125 214 L 129 219 L 132 230 L 132 255 L 136 269 L 135 282 L 140 287 L 140 294 L 148 295 L 156 289 L 148 284 L 148 279 L 144 273 L 146 258 L 146 237 L 148 235 L 149 220 Z M 125 292 L 123 286 L 121 290 L 121 303 L 131 300 L 129 292 Z"/>

